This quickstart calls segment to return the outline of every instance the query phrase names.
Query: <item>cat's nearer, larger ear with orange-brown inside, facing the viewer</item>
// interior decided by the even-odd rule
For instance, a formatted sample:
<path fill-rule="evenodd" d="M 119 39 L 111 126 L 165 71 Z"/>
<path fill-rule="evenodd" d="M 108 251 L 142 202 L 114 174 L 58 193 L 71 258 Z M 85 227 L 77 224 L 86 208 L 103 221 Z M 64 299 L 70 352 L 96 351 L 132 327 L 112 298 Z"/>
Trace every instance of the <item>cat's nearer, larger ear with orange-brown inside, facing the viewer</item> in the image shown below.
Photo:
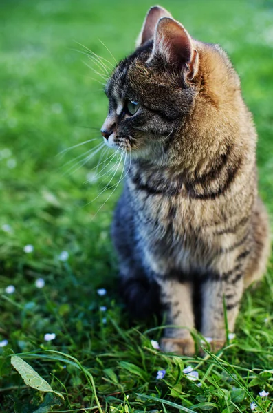
<path fill-rule="evenodd" d="M 155 28 L 153 52 L 149 62 L 160 56 L 170 65 L 186 66 L 188 80 L 193 80 L 198 70 L 198 53 L 182 24 L 162 17 Z"/>

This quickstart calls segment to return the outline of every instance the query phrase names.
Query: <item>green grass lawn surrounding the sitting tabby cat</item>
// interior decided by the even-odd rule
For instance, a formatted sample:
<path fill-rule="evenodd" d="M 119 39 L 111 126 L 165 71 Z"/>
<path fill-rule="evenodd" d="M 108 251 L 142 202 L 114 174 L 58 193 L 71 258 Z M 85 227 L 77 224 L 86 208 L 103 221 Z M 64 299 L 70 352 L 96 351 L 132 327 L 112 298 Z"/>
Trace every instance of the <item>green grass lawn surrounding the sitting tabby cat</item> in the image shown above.
<path fill-rule="evenodd" d="M 107 176 L 85 184 L 99 156 L 69 171 L 77 156 L 101 142 L 107 113 L 97 82 L 102 79 L 83 63 L 96 69 L 75 51 L 85 51 L 78 43 L 113 63 L 98 39 L 122 58 L 133 50 L 149 6 L 144 0 L 1 2 L 0 341 L 8 339 L 0 348 L 3 413 L 232 413 L 250 412 L 253 400 L 256 412 L 273 412 L 272 266 L 259 287 L 245 293 L 237 337 L 221 358 L 153 350 L 151 339 L 160 339 L 160 328 L 132 327 L 116 286 L 109 226 L 121 184 L 109 200 L 113 189 L 97 198 Z M 162 6 L 197 39 L 221 44 L 241 75 L 259 132 L 260 193 L 272 218 L 272 1 L 169 0 Z M 92 138 L 98 140 L 57 156 Z M 3 225 L 11 230 L 3 231 Z M 23 251 L 28 244 L 32 253 Z M 59 259 L 62 251 L 69 253 L 65 262 Z M 39 278 L 45 280 L 41 289 L 35 286 Z M 15 292 L 8 295 L 10 284 Z M 100 297 L 98 288 L 107 295 Z M 48 332 L 56 339 L 45 341 Z M 12 352 L 65 401 L 25 385 L 10 365 Z M 198 381 L 183 373 L 189 365 Z M 157 370 L 166 370 L 164 379 L 156 379 Z M 259 396 L 263 389 L 270 396 Z M 52 410 L 46 407 L 54 403 Z"/>

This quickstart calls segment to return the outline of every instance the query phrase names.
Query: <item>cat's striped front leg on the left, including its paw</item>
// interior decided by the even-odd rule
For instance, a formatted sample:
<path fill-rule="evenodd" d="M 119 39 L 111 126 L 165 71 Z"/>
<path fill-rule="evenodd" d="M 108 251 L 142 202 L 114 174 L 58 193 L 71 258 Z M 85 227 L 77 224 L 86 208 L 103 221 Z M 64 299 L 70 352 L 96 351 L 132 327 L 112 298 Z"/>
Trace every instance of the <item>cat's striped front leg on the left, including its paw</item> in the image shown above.
<path fill-rule="evenodd" d="M 177 354 L 194 354 L 195 343 L 190 331 L 195 327 L 193 312 L 193 285 L 166 279 L 160 283 L 161 301 L 166 309 L 166 323 L 162 350 Z"/>

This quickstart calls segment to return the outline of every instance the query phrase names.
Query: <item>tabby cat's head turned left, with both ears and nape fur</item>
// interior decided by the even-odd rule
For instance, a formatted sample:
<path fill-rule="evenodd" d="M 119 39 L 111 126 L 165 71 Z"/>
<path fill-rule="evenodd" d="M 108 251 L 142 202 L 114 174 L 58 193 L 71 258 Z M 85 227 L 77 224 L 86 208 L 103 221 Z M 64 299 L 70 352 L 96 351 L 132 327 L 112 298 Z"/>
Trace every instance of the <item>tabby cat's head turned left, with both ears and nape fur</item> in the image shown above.
<path fill-rule="evenodd" d="M 102 136 L 109 147 L 160 156 L 174 139 L 184 139 L 196 107 L 209 117 L 210 107 L 223 103 L 225 88 L 231 94 L 239 88 L 226 54 L 192 39 L 171 14 L 155 6 L 146 15 L 135 52 L 118 64 L 105 87 L 109 112 Z"/>

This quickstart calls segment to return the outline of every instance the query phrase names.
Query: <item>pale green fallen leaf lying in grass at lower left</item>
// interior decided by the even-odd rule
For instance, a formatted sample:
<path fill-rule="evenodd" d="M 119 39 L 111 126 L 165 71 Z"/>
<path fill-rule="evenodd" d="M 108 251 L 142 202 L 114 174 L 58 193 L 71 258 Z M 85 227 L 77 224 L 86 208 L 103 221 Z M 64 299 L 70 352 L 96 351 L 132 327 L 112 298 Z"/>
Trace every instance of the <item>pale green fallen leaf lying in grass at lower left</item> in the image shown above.
<path fill-rule="evenodd" d="M 12 366 L 19 372 L 20 376 L 22 377 L 23 381 L 26 385 L 39 390 L 40 392 L 52 392 L 57 394 L 57 396 L 61 397 L 61 399 L 65 400 L 63 394 L 55 392 L 51 385 L 47 383 L 39 374 L 21 357 L 12 356 L 11 361 Z"/>

